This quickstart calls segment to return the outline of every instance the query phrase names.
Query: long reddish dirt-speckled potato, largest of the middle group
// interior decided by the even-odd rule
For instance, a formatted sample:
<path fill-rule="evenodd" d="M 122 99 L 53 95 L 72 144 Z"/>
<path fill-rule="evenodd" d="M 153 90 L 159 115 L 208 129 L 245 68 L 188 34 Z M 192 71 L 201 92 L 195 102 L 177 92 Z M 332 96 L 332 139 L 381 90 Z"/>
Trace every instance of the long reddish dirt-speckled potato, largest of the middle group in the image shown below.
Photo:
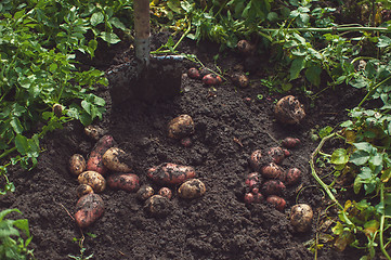
<path fill-rule="evenodd" d="M 164 162 L 149 168 L 147 177 L 161 185 L 177 185 L 183 183 L 185 180 L 195 178 L 196 172 L 191 166 Z"/>

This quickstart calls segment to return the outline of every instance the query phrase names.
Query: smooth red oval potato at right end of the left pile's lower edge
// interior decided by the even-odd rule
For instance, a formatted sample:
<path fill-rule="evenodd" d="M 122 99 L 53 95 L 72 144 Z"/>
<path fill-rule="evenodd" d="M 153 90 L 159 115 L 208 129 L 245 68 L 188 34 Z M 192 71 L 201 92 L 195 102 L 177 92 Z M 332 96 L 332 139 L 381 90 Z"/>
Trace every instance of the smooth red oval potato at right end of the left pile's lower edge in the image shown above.
<path fill-rule="evenodd" d="M 113 190 L 136 192 L 140 188 L 140 179 L 133 173 L 114 173 L 107 177 L 107 186 Z"/>

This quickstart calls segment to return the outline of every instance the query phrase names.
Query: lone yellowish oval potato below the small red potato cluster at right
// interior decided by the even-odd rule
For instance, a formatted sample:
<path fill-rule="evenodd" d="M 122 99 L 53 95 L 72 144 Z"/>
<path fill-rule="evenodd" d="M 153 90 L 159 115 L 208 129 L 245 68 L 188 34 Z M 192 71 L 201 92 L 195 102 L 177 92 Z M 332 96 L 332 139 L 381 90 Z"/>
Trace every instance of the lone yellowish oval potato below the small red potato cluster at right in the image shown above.
<path fill-rule="evenodd" d="M 314 213 L 308 204 L 297 204 L 290 210 L 290 223 L 298 232 L 310 229 Z"/>

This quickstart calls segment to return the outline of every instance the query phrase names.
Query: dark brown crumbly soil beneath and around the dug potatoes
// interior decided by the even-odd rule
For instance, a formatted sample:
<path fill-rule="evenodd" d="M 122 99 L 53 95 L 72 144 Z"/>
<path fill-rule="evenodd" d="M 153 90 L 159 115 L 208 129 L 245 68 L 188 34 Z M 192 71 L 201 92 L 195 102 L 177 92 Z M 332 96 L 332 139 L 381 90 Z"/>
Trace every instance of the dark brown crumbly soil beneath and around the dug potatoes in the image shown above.
<path fill-rule="evenodd" d="M 165 37 L 156 37 L 154 44 L 164 43 Z M 93 61 L 80 61 L 109 72 L 132 58 L 127 47 L 119 43 L 101 50 Z M 218 54 L 218 47 L 185 42 L 180 51 L 194 53 L 209 68 L 217 69 L 213 56 Z M 190 61 L 180 63 L 180 74 L 194 66 Z M 218 64 L 223 72 L 242 70 L 237 65 L 243 65 L 244 58 L 231 52 L 220 56 Z M 146 171 L 161 162 L 193 166 L 207 187 L 203 197 L 181 199 L 177 187 L 171 186 L 171 211 L 154 217 L 145 211 L 144 203 L 138 200 L 134 193 L 106 188 L 100 194 L 105 204 L 104 216 L 81 233 L 73 219 L 78 182 L 69 173 L 67 164 L 76 153 L 88 157 L 95 141 L 84 134 L 83 126 L 74 121 L 42 140 L 43 152 L 37 168 L 10 169 L 9 178 L 16 191 L 1 198 L 0 208 L 18 208 L 22 218 L 28 219 L 34 236 L 30 247 L 39 260 L 79 256 L 80 247 L 75 238 L 83 236 L 84 257 L 93 253 L 92 259 L 96 260 L 314 259 L 308 247 L 328 203 L 316 187 L 309 167 L 317 145 L 311 139 L 311 130 L 334 127 L 346 119 L 346 109 L 354 107 L 361 95 L 348 87 L 325 91 L 314 101 L 301 91 L 271 95 L 260 83 L 271 64 L 264 61 L 257 66 L 256 73 L 250 74 L 250 87 L 245 89 L 230 80 L 210 88 L 183 75 L 181 93 L 160 101 L 113 103 L 109 92 L 113 86 L 101 86 L 96 90 L 107 102 L 107 113 L 96 125 L 131 153 L 133 173 L 140 177 L 141 183 L 151 184 L 157 191 L 159 186 L 148 180 Z M 153 74 L 151 77 L 157 80 Z M 300 81 L 294 84 L 298 87 Z M 286 126 L 274 118 L 274 103 L 286 94 L 296 95 L 305 107 L 307 117 L 300 125 Z M 167 123 L 181 114 L 191 115 L 195 122 L 190 147 L 167 136 Z M 287 207 L 278 211 L 265 202 L 246 205 L 244 181 L 246 174 L 252 172 L 251 153 L 276 146 L 286 136 L 299 138 L 301 145 L 290 151 L 291 156 L 282 167 L 302 170 L 301 182 L 288 186 L 283 195 Z M 318 170 L 322 174 L 322 169 Z M 314 210 L 309 232 L 297 233 L 289 223 L 289 209 L 296 203 L 309 204 Z M 360 255 L 350 248 L 338 252 L 326 246 L 318 250 L 317 259 L 360 259 Z"/>

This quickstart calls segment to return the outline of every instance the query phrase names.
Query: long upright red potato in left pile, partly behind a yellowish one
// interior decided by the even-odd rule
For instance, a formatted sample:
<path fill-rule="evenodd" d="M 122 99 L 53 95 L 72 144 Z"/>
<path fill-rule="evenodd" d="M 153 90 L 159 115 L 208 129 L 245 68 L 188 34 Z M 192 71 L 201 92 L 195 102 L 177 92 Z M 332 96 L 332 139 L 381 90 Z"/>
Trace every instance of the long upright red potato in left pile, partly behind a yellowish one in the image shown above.
<path fill-rule="evenodd" d="M 95 146 L 93 147 L 92 152 L 87 161 L 87 170 L 96 171 L 101 174 L 105 174 L 107 168 L 103 165 L 102 157 L 104 153 L 110 147 L 116 144 L 112 135 L 104 135 L 101 138 Z"/>

